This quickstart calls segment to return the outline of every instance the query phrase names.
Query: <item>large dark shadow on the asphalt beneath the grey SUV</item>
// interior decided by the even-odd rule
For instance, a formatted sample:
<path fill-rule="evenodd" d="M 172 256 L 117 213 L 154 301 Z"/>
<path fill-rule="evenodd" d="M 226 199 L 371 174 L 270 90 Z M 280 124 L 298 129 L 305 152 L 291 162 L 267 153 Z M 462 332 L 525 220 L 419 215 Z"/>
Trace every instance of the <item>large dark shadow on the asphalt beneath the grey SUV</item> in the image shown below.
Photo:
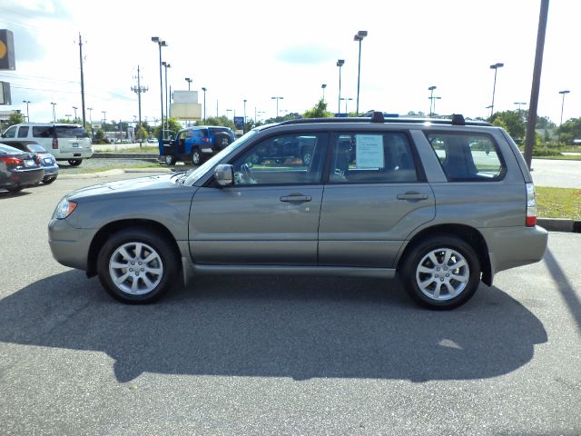
<path fill-rule="evenodd" d="M 115 302 L 70 271 L 0 301 L 0 341 L 106 352 L 118 381 L 163 374 L 467 380 L 529 362 L 537 317 L 496 287 L 450 312 L 397 281 L 200 277 L 161 302 Z"/>

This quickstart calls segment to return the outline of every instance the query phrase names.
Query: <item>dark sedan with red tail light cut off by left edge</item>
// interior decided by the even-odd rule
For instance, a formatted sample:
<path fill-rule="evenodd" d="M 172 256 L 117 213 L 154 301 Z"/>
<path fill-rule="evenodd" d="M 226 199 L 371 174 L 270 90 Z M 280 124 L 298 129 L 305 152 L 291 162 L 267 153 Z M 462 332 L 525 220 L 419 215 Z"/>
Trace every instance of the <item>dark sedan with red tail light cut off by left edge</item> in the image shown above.
<path fill-rule="evenodd" d="M 16 193 L 43 180 L 40 157 L 0 144 L 0 189 Z"/>

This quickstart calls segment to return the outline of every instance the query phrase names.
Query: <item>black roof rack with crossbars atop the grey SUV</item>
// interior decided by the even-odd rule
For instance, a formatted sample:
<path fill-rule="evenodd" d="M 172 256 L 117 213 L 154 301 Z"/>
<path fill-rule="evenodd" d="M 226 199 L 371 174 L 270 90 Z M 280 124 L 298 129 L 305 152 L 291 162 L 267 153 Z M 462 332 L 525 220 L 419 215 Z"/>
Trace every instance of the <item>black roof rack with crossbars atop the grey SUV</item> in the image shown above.
<path fill-rule="evenodd" d="M 300 118 L 287 120 L 278 124 L 312 124 L 312 123 L 397 123 L 397 124 L 446 124 L 446 125 L 492 125 L 485 121 L 466 121 L 462 114 L 452 114 L 449 118 L 407 118 L 386 114 L 379 111 L 365 114 L 359 117 L 334 117 L 334 118 Z"/>

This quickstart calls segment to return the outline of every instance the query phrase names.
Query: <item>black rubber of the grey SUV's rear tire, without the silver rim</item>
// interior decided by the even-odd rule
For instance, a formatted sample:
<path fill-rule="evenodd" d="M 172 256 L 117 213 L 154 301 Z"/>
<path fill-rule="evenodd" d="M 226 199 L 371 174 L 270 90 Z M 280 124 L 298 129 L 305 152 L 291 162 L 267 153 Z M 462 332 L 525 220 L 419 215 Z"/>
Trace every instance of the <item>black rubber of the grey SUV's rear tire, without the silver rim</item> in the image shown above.
<path fill-rule="evenodd" d="M 468 263 L 468 268 L 470 271 L 468 284 L 464 291 L 462 291 L 458 296 L 446 301 L 432 300 L 423 292 L 421 292 L 418 283 L 416 282 L 416 269 L 419 262 L 427 253 L 439 248 L 449 248 L 462 254 Z M 478 260 L 478 255 L 468 243 L 458 238 L 457 236 L 447 235 L 430 237 L 424 242 L 417 243 L 414 247 L 411 248 L 403 262 L 404 266 L 402 268 L 402 282 L 405 284 L 406 291 L 415 302 L 418 302 L 420 305 L 427 307 L 428 309 L 454 309 L 464 304 L 465 302 L 468 302 L 468 300 L 474 295 L 474 292 L 477 291 L 478 285 L 480 283 L 480 263 Z"/>

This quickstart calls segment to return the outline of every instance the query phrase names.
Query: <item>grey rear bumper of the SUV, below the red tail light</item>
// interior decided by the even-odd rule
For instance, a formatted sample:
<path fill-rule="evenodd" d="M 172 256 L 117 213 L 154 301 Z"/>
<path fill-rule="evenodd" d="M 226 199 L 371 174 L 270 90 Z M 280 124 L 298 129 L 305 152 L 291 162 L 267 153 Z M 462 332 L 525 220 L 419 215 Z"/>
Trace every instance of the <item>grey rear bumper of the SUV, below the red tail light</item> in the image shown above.
<path fill-rule="evenodd" d="M 488 245 L 492 276 L 517 266 L 537 263 L 547 251 L 548 232 L 543 227 L 480 229 Z"/>

